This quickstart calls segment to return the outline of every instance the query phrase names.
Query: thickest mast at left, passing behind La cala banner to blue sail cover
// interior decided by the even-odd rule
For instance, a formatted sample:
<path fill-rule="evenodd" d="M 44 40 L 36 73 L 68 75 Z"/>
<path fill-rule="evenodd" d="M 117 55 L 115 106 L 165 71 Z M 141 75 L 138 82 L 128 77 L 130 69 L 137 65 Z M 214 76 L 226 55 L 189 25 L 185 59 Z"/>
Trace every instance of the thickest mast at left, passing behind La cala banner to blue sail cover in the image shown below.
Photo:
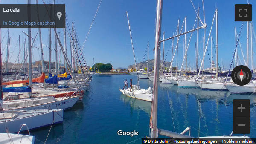
<path fill-rule="evenodd" d="M 28 17 L 30 21 L 30 0 L 28 0 Z M 28 55 L 29 55 L 29 86 L 32 87 L 32 55 L 31 55 L 31 26 L 28 26 Z M 29 96 L 32 97 L 32 92 L 29 92 Z"/>

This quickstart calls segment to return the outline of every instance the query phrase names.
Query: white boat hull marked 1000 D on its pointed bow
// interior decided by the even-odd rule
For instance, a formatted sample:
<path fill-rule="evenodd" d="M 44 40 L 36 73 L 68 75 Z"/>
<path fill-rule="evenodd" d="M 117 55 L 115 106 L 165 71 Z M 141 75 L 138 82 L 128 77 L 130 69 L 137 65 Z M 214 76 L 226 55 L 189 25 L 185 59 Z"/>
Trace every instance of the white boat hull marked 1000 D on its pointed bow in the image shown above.
<path fill-rule="evenodd" d="M 26 98 L 4 101 L 4 110 L 29 110 L 29 109 L 68 109 L 73 107 L 79 97 L 42 97 Z"/>

